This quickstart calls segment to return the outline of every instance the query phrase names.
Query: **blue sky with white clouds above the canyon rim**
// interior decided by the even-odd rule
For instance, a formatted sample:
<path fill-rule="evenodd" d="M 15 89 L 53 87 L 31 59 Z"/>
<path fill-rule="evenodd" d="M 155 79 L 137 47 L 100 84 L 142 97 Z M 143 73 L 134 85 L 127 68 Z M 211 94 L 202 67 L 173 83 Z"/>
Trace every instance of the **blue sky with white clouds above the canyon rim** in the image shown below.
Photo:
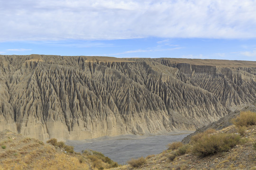
<path fill-rule="evenodd" d="M 256 61 L 256 0 L 0 0 L 0 55 Z"/>

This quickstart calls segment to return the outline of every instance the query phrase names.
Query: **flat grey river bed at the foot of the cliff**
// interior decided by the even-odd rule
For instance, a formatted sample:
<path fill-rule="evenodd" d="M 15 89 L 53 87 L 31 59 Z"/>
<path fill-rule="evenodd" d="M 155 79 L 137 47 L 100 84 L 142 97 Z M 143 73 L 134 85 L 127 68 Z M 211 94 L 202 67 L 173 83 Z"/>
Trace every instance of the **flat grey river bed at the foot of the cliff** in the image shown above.
<path fill-rule="evenodd" d="M 88 148 L 103 153 L 119 164 L 126 164 L 131 158 L 161 153 L 167 149 L 167 144 L 181 141 L 190 133 L 192 132 L 173 132 L 157 136 L 104 136 L 89 140 L 68 140 L 66 144 L 72 145 L 75 152 L 81 152 Z"/>

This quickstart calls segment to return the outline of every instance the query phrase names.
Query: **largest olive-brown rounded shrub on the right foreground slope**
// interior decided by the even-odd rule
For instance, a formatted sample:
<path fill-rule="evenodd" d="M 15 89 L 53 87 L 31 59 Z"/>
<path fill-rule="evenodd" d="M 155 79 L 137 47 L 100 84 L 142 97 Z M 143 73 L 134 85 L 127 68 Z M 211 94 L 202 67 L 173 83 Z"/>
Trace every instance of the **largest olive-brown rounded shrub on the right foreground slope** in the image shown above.
<path fill-rule="evenodd" d="M 241 137 L 236 134 L 219 133 L 216 135 L 203 135 L 192 146 L 192 153 L 200 156 L 228 151 L 240 142 Z"/>

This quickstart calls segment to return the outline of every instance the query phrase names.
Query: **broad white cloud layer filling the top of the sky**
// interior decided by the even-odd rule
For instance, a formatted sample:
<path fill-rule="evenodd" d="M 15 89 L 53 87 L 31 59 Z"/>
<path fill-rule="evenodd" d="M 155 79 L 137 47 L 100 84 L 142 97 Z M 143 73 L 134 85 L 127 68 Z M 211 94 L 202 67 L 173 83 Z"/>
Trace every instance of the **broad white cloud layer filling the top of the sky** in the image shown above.
<path fill-rule="evenodd" d="M 0 0 L 0 41 L 256 38 L 255 0 Z"/>

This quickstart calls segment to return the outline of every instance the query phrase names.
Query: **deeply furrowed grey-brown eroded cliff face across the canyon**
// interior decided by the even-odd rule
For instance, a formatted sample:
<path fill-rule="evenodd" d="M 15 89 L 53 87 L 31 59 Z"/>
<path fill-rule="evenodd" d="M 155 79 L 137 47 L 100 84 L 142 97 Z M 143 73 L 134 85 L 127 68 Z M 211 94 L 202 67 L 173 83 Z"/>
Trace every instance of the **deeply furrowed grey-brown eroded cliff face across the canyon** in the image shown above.
<path fill-rule="evenodd" d="M 198 61 L 0 56 L 0 131 L 40 140 L 164 134 L 255 101 L 256 62 Z"/>

